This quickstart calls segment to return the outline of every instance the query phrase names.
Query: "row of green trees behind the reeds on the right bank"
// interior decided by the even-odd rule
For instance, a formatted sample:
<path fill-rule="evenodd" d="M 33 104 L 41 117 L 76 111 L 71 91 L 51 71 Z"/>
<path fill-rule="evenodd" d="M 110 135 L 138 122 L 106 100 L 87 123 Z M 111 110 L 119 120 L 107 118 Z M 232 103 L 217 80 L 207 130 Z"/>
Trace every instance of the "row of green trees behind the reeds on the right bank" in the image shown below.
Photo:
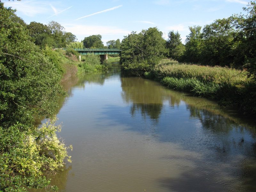
<path fill-rule="evenodd" d="M 121 44 L 120 62 L 136 75 L 156 65 L 161 58 L 200 65 L 245 69 L 256 78 L 256 4 L 243 8 L 247 14 L 217 19 L 212 24 L 189 27 L 185 44 L 179 32 L 169 31 L 165 41 L 157 28 L 132 32 Z"/>

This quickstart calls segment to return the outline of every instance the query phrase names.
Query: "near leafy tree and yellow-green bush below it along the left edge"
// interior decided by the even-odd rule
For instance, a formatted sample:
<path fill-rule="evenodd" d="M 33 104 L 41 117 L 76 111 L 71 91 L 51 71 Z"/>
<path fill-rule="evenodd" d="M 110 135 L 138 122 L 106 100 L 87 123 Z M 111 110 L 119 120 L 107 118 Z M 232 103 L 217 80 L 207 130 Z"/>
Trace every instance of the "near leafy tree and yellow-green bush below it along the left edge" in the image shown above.
<path fill-rule="evenodd" d="M 33 126 L 34 116 L 53 114 L 64 94 L 60 75 L 28 31 L 11 21 L 13 13 L 0 3 L 0 191 L 44 188 L 50 181 L 43 171 L 68 157 L 55 133 L 59 126 Z"/>

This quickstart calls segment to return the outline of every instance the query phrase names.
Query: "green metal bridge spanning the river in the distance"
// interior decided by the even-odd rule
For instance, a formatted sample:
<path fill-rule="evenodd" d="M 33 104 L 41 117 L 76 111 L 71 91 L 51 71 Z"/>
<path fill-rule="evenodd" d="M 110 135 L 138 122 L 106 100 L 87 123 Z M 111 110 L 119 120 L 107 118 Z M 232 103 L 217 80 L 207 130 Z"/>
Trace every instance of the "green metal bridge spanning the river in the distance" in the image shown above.
<path fill-rule="evenodd" d="M 80 55 L 100 55 L 100 60 L 104 61 L 108 59 L 108 55 L 118 55 L 121 50 L 120 49 L 75 49 L 75 51 L 79 52 Z M 64 49 L 67 50 L 67 49 Z M 81 59 L 81 58 L 80 58 Z"/>

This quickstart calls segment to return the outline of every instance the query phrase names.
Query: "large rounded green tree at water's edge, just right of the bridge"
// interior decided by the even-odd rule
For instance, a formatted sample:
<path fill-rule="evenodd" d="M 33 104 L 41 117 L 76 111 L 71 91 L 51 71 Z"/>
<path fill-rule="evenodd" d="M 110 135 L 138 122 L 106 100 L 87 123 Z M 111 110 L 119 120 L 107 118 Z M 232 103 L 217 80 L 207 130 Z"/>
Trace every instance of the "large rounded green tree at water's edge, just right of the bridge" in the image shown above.
<path fill-rule="evenodd" d="M 150 71 L 164 57 L 165 40 L 157 28 L 132 32 L 125 36 L 121 44 L 120 63 L 125 71 L 137 76 Z"/>

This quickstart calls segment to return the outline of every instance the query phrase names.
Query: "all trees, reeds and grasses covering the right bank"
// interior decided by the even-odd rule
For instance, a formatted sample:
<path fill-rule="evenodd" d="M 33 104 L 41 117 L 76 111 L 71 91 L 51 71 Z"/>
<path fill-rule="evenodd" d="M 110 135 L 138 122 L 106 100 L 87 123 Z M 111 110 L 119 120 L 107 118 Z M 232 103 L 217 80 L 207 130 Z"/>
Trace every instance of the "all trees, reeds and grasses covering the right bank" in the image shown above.
<path fill-rule="evenodd" d="M 170 31 L 167 41 L 157 28 L 132 32 L 121 43 L 122 70 L 255 115 L 256 3 L 244 11 L 204 28 L 189 27 L 185 45 L 178 31 Z"/>

